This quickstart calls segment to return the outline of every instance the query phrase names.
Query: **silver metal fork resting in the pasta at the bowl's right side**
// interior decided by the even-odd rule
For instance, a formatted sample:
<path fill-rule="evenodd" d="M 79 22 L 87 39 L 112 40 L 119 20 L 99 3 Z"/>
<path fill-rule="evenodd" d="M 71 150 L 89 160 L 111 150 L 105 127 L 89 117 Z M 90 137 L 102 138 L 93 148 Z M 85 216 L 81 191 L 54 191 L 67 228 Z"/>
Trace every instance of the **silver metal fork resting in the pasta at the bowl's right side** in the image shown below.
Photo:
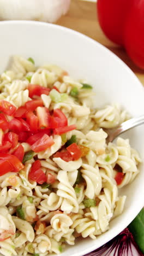
<path fill-rule="evenodd" d="M 113 139 L 115 139 L 118 135 L 121 133 L 130 130 L 131 128 L 144 124 L 144 115 L 141 115 L 140 117 L 131 118 L 125 122 L 123 122 L 121 125 L 118 125 L 115 128 L 112 129 L 103 129 L 107 133 L 106 142 L 112 142 Z"/>

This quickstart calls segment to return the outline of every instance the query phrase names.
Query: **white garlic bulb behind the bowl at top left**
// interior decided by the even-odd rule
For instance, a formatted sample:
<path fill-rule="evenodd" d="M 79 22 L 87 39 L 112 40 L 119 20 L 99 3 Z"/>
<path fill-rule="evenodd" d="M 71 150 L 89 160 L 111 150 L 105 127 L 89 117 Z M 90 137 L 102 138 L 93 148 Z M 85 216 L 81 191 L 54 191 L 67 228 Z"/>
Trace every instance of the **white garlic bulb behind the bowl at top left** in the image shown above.
<path fill-rule="evenodd" d="M 70 0 L 0 0 L 0 20 L 55 22 L 69 5 Z"/>

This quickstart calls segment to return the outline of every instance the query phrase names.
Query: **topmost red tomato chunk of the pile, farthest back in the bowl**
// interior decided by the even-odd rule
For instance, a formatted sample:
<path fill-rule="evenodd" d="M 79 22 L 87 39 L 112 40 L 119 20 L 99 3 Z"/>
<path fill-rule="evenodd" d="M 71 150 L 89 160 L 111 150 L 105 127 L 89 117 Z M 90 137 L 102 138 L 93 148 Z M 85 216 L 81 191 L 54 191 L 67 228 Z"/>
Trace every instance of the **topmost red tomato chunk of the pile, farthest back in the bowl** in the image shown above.
<path fill-rule="evenodd" d="M 29 84 L 28 85 L 29 97 L 33 97 L 34 95 L 40 96 L 41 94 L 49 95 L 50 88 L 45 88 L 38 84 Z"/>

